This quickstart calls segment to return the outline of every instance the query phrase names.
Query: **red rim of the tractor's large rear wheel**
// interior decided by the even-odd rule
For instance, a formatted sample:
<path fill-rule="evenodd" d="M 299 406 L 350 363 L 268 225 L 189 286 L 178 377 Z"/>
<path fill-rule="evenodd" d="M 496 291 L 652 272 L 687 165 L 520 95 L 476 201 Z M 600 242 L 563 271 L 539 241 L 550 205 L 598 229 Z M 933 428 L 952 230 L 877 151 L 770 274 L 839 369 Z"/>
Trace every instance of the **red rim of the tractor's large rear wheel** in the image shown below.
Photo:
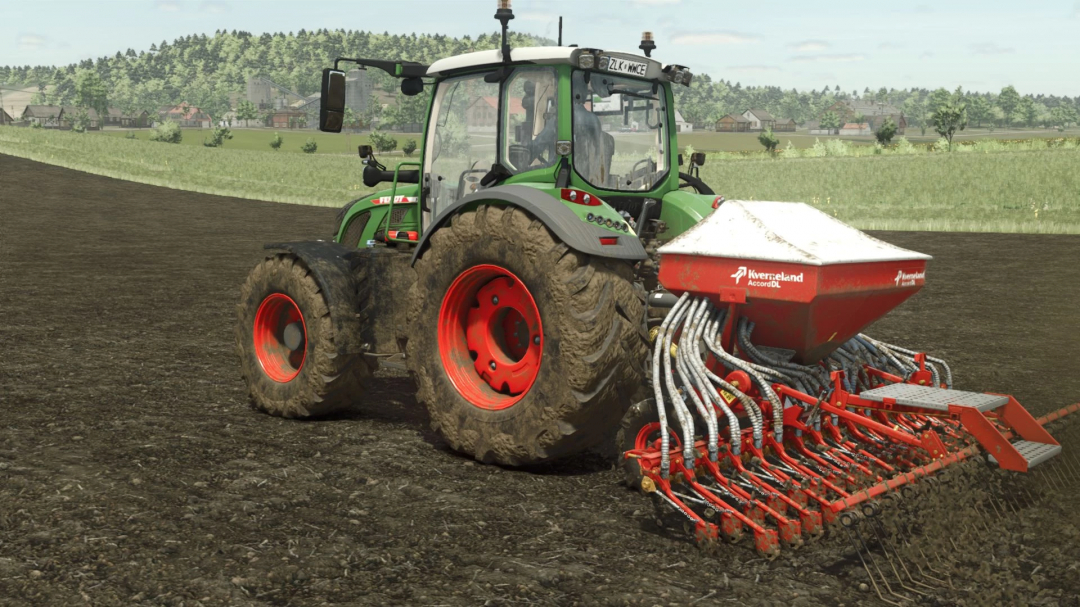
<path fill-rule="evenodd" d="M 461 272 L 438 310 L 438 353 L 474 406 L 498 410 L 521 401 L 543 354 L 540 311 L 525 283 L 498 266 Z"/>

